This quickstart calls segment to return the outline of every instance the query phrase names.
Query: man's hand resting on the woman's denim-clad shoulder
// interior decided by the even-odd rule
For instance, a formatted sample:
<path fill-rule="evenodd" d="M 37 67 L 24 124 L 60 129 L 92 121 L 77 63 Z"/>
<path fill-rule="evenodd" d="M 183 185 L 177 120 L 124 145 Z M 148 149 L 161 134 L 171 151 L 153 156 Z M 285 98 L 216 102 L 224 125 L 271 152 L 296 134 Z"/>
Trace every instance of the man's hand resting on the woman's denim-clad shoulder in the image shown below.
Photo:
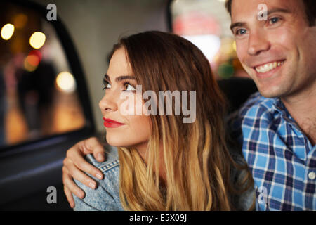
<path fill-rule="evenodd" d="M 104 148 L 95 137 L 80 141 L 72 146 L 72 148 L 67 150 L 66 158 L 63 161 L 62 182 L 64 184 L 66 198 L 72 208 L 74 207 L 72 193 L 77 195 L 78 198 L 84 198 L 85 195 L 84 191 L 74 183 L 73 179 L 93 189 L 96 188 L 96 181 L 93 181 L 93 179 L 84 174 L 84 172 L 95 176 L 97 179 L 103 179 L 103 173 L 84 159 L 84 155 L 91 153 L 98 162 L 105 160 Z"/>

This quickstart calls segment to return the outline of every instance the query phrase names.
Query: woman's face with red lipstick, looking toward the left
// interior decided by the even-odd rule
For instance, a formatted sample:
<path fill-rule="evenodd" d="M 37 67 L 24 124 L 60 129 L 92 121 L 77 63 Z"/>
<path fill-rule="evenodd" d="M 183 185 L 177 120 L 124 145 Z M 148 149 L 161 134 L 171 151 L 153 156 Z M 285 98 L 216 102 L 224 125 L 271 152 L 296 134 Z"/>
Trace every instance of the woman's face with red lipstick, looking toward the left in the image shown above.
<path fill-rule="evenodd" d="M 107 143 L 116 147 L 145 150 L 151 132 L 150 116 L 121 113 L 122 109 L 136 109 L 137 83 L 124 48 L 114 52 L 104 77 L 104 84 L 105 96 L 99 107 L 103 114 Z M 126 101 L 126 96 L 131 97 L 129 99 L 133 101 Z M 141 96 L 137 97 L 137 101 L 143 105 Z"/>

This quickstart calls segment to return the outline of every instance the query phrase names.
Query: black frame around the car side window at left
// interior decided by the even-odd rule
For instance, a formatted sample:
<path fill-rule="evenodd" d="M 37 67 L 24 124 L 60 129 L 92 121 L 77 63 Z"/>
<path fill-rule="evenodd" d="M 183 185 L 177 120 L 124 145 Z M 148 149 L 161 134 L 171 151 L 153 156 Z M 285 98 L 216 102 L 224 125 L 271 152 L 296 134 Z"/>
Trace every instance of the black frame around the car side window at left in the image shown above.
<path fill-rule="evenodd" d="M 8 2 L 10 4 L 17 4 L 19 6 L 29 8 L 32 11 L 36 11 L 44 20 L 46 19 L 46 15 L 49 11 L 48 9 L 46 9 L 46 7 L 33 1 L 5 0 L 5 2 Z M 81 129 L 75 131 L 67 131 L 65 133 L 44 136 L 36 140 L 23 141 L 22 143 L 13 144 L 12 146 L 2 146 L 0 147 L 0 158 L 29 150 L 38 150 L 39 148 L 45 148 L 46 146 L 62 143 L 63 141 L 74 139 L 74 137 L 78 136 L 92 136 L 96 133 L 96 126 L 93 119 L 92 105 L 89 98 L 88 86 L 84 75 L 84 70 L 81 66 L 81 61 L 79 60 L 77 49 L 75 48 L 72 38 L 67 32 L 67 28 L 65 27 L 58 14 L 57 20 L 51 20 L 49 21 L 49 23 L 51 23 L 51 25 L 55 29 L 56 36 L 58 37 L 60 45 L 63 48 L 72 75 L 77 82 L 77 95 L 84 113 L 85 125 Z"/>

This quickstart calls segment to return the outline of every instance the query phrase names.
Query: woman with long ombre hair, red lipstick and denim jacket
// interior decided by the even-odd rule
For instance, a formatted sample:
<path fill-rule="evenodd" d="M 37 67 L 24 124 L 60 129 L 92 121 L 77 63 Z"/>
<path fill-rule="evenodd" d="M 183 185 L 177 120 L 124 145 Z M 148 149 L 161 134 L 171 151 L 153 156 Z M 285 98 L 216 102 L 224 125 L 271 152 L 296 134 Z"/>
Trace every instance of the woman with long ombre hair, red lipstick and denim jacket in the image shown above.
<path fill-rule="evenodd" d="M 110 149 L 103 163 L 88 156 L 105 179 L 95 180 L 96 190 L 76 181 L 86 196 L 74 197 L 75 210 L 246 209 L 235 198 L 241 191 L 234 181 L 240 172 L 226 146 L 225 101 L 208 60 L 196 46 L 164 32 L 123 38 L 110 54 L 104 83 L 105 96 L 99 106 L 107 143 L 117 150 Z M 141 94 L 136 93 L 136 85 L 141 85 Z M 182 97 L 195 103 L 195 120 L 184 122 L 187 114 L 179 114 L 177 98 L 163 102 L 152 97 L 150 107 L 144 107 L 148 106 L 143 95 L 146 91 L 160 98 L 159 91 L 166 90 L 190 93 Z M 126 103 L 122 95 L 130 101 Z M 182 110 L 187 108 L 183 103 L 182 99 Z M 136 115 L 139 108 L 143 113 Z M 74 186 L 70 184 L 70 174 L 78 170 L 74 160 L 67 153 L 65 186 Z M 92 171 L 91 167 L 82 169 Z M 243 177 L 251 186 L 250 176 Z M 239 189 L 247 189 L 242 186 Z M 69 196 L 66 188 L 65 193 Z"/>

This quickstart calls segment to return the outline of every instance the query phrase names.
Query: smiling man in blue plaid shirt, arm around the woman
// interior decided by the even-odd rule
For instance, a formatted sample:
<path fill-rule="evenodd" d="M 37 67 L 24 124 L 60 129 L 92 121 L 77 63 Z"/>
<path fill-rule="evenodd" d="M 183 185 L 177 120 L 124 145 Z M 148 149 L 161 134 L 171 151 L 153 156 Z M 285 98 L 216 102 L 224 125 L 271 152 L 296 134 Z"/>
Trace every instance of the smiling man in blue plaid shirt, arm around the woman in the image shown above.
<path fill-rule="evenodd" d="M 262 20 L 260 4 L 267 8 Z M 316 210 L 316 27 L 315 0 L 228 0 L 237 56 L 260 94 L 235 115 L 235 134 L 242 134 L 244 157 L 257 189 L 257 210 Z M 260 7 L 259 7 L 260 8 Z M 96 139 L 78 143 L 69 154 L 103 154 Z M 103 158 L 100 158 L 102 161 Z M 71 177 L 93 182 L 102 173 L 83 159 L 65 159 L 65 193 L 84 197 Z M 97 177 L 97 176 L 96 176 Z M 91 185 L 93 187 L 93 184 Z"/>

